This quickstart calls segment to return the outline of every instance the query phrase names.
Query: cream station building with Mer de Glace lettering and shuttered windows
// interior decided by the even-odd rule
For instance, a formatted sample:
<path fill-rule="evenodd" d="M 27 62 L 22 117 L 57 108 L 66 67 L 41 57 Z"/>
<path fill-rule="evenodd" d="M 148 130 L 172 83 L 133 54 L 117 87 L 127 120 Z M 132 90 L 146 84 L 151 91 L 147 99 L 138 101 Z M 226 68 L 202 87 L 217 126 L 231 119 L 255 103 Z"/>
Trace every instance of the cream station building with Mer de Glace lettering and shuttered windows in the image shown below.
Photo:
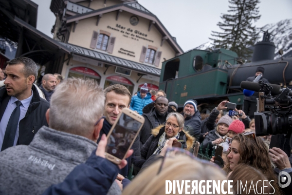
<path fill-rule="evenodd" d="M 183 50 L 158 18 L 135 0 L 52 0 L 54 41 L 64 53 L 64 78 L 94 78 L 131 94 L 158 90 L 162 62 Z M 52 69 L 51 69 L 52 70 Z"/>

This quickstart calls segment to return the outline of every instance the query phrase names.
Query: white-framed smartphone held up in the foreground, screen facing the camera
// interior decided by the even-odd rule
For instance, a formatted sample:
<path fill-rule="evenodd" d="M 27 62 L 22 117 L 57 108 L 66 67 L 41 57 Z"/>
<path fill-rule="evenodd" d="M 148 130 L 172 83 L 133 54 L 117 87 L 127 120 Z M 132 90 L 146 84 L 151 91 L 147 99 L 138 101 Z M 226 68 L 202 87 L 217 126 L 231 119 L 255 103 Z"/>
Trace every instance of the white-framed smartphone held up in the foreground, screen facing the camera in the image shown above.
<path fill-rule="evenodd" d="M 120 164 L 126 158 L 143 124 L 144 117 L 124 108 L 118 115 L 107 136 L 106 158 L 115 164 Z"/>

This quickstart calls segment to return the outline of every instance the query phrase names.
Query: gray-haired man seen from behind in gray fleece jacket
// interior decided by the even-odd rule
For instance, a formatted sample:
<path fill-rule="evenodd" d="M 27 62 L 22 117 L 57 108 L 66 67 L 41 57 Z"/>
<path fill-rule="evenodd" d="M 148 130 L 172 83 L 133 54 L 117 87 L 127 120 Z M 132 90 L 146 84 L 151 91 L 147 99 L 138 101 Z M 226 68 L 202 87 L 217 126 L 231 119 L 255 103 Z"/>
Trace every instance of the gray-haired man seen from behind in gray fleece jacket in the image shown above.
<path fill-rule="evenodd" d="M 0 153 L 0 194 L 40 195 L 60 183 L 97 147 L 105 96 L 94 80 L 69 78 L 58 85 L 43 126 L 29 146 Z M 106 170 L 105 170 L 106 171 Z M 121 194 L 113 182 L 110 194 Z"/>

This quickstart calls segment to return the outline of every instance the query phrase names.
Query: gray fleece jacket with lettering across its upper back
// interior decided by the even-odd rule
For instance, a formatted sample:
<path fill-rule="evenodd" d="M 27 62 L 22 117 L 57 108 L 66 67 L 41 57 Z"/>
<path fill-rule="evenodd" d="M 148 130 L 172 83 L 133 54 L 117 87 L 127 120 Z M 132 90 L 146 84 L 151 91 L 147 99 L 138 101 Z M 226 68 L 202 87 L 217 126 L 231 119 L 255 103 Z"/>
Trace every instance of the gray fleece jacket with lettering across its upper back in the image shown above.
<path fill-rule="evenodd" d="M 85 137 L 43 126 L 28 145 L 0 152 L 0 195 L 40 195 L 84 163 L 97 144 Z M 108 195 L 120 195 L 113 182 Z"/>

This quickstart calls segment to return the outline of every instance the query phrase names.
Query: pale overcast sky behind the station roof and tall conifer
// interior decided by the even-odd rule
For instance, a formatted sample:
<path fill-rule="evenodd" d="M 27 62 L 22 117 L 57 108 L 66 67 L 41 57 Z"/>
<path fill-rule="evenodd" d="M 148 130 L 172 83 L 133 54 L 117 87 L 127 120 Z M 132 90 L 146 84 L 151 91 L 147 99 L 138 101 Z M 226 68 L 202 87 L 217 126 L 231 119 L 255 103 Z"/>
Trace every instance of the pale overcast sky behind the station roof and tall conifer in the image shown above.
<path fill-rule="evenodd" d="M 51 29 L 55 15 L 50 10 L 51 0 L 32 0 L 38 4 L 37 29 L 53 37 Z M 176 37 L 183 51 L 209 41 L 211 31 L 219 31 L 217 23 L 226 14 L 228 0 L 138 0 Z M 280 20 L 292 19 L 292 0 L 261 0 L 261 18 L 255 23 L 262 27 Z"/>

